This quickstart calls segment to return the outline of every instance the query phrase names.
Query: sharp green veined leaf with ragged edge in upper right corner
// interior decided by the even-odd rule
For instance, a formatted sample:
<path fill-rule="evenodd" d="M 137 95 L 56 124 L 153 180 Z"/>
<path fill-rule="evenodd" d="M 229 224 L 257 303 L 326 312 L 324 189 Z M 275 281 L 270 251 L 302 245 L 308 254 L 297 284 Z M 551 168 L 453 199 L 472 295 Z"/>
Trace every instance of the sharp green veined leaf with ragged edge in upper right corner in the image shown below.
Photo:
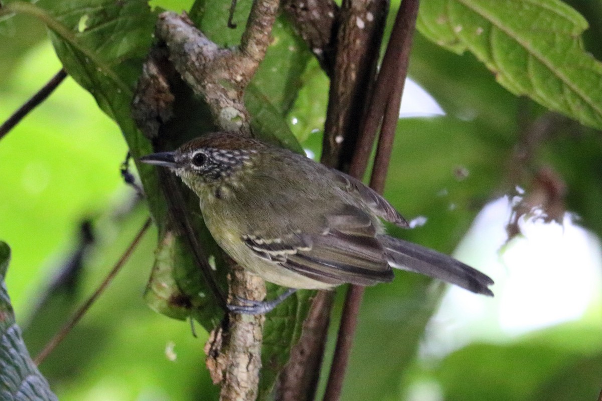
<path fill-rule="evenodd" d="M 450 51 L 470 51 L 504 88 L 602 127 L 602 64 L 583 49 L 588 23 L 558 0 L 432 0 L 418 29 Z"/>

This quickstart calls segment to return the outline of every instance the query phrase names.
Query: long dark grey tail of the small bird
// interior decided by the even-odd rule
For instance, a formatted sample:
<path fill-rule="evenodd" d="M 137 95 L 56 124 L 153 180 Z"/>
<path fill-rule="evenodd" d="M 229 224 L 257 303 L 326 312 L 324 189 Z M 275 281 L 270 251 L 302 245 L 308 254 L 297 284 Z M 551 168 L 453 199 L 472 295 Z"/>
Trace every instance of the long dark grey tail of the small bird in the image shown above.
<path fill-rule="evenodd" d="M 493 280 L 453 257 L 415 243 L 380 235 L 389 264 L 397 269 L 425 274 L 472 292 L 493 296 L 488 288 Z"/>

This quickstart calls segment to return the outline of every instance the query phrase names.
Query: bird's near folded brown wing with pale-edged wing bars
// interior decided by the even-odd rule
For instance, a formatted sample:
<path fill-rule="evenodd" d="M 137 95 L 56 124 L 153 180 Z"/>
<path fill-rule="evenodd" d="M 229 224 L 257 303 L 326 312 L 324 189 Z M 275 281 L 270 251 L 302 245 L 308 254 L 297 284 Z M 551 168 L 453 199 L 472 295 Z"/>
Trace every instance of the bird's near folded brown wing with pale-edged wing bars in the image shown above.
<path fill-rule="evenodd" d="M 370 286 L 393 280 L 376 227 L 355 206 L 330 214 L 322 233 L 293 232 L 279 239 L 244 236 L 243 241 L 257 256 L 323 283 Z"/>

